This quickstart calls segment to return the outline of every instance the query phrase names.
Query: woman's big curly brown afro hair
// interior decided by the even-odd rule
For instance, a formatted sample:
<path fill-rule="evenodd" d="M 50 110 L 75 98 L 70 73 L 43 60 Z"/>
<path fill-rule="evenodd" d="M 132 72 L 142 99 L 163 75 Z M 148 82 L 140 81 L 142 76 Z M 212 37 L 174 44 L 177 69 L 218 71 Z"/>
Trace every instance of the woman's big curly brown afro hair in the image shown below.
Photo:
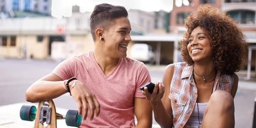
<path fill-rule="evenodd" d="M 180 41 L 183 61 L 192 65 L 194 61 L 189 56 L 187 45 L 191 32 L 200 26 L 209 38 L 213 48 L 213 65 L 221 73 L 233 75 L 238 72 L 243 63 L 246 41 L 241 29 L 226 13 L 209 4 L 198 7 L 196 17 L 190 14 L 185 20 L 187 31 Z"/>

